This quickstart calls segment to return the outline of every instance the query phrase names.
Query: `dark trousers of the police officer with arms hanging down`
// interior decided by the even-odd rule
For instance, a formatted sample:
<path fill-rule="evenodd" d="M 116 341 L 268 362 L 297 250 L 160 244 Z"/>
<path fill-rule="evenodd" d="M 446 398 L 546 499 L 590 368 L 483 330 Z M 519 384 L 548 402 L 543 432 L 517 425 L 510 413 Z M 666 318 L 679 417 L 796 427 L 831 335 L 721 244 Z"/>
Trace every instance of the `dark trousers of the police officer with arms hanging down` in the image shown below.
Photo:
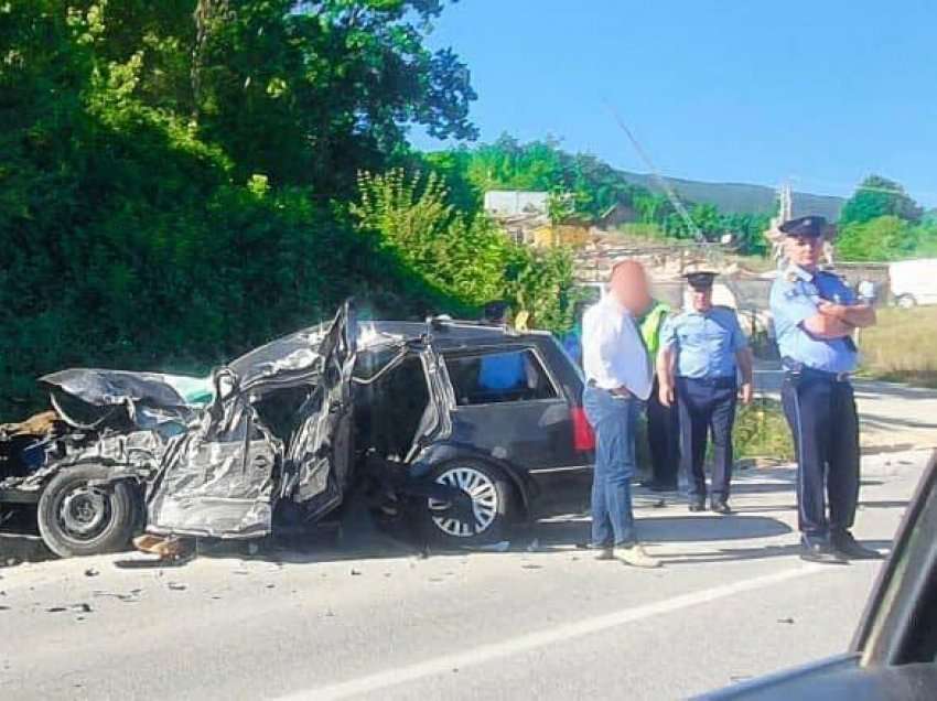
<path fill-rule="evenodd" d="M 712 432 L 712 499 L 728 500 L 732 481 L 732 424 L 737 386 L 734 377 L 677 378 L 680 470 L 690 481 L 690 499 L 706 499 L 707 434 Z"/>

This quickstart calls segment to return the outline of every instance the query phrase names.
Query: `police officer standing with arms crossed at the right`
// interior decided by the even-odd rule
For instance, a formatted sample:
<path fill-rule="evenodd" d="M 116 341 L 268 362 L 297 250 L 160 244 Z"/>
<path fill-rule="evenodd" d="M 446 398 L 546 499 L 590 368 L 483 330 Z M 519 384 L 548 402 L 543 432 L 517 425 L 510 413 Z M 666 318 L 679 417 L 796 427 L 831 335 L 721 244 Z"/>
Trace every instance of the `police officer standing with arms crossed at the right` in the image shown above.
<path fill-rule="evenodd" d="M 823 217 L 799 217 L 779 228 L 788 266 L 772 287 L 771 309 L 785 367 L 784 412 L 797 445 L 801 558 L 877 558 L 849 531 L 859 499 L 859 420 L 849 381 L 858 355 L 852 333 L 873 325 L 875 311 L 858 303 L 839 277 L 819 269 Z"/>

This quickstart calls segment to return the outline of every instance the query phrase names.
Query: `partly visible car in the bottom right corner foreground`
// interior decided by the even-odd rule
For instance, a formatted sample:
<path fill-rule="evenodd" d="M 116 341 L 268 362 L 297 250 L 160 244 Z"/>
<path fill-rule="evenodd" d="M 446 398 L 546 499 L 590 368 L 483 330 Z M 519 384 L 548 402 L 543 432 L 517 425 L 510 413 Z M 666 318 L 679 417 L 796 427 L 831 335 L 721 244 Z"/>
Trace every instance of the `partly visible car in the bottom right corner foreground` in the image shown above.
<path fill-rule="evenodd" d="M 703 694 L 712 701 L 937 698 L 937 453 L 905 511 L 849 650 Z"/>

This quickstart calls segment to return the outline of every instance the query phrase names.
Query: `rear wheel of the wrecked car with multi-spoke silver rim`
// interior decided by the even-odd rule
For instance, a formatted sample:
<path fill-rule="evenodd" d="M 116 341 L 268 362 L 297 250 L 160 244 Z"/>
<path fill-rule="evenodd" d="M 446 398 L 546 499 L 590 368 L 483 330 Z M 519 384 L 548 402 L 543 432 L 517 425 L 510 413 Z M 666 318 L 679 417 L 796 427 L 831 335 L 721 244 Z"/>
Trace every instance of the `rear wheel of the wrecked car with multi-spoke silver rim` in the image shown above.
<path fill-rule="evenodd" d="M 456 460 L 437 466 L 430 473 L 440 484 L 459 486 L 470 493 L 475 514 L 475 532 L 454 518 L 434 511 L 444 504 L 422 502 L 422 531 L 428 540 L 448 547 L 475 547 L 497 542 L 506 531 L 515 504 L 513 488 L 497 467 L 477 460 Z"/>

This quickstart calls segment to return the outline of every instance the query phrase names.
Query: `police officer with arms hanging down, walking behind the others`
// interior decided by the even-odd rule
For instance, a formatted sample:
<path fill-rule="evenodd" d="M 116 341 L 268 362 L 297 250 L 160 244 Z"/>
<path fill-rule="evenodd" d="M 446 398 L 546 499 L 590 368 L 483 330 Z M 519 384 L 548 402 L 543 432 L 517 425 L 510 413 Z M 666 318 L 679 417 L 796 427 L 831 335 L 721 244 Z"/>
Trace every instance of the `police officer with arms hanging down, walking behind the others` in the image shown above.
<path fill-rule="evenodd" d="M 690 481 L 691 511 L 706 508 L 707 434 L 712 432 L 714 459 L 710 508 L 730 514 L 732 425 L 736 397 L 752 401 L 752 352 L 735 311 L 712 304 L 714 272 L 686 276 L 692 290 L 688 311 L 667 321 L 661 334 L 657 373 L 660 402 L 674 403 L 680 424 L 680 468 Z M 741 393 L 737 375 L 742 375 Z"/>

